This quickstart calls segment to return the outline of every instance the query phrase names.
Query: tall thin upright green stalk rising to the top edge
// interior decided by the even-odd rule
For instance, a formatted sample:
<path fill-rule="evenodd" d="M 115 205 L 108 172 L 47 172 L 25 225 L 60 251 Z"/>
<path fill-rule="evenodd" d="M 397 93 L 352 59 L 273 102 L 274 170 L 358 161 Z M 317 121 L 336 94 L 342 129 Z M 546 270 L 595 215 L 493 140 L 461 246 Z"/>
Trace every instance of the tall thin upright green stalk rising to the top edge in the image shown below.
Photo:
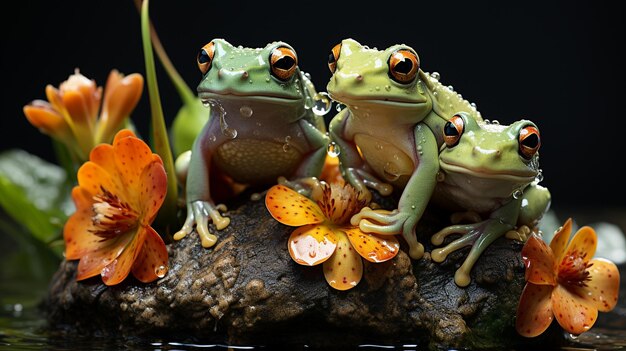
<path fill-rule="evenodd" d="M 156 153 L 159 154 L 163 160 L 163 166 L 168 176 L 167 195 L 157 215 L 156 224 L 165 228 L 166 235 L 169 239 L 171 232 L 169 227 L 177 224 L 178 184 L 176 183 L 172 150 L 170 149 L 167 129 L 165 127 L 165 118 L 163 117 L 163 108 L 161 107 L 161 97 L 159 96 L 159 87 L 156 80 L 154 55 L 150 41 L 150 18 L 148 13 L 148 0 L 144 0 L 141 8 L 141 38 L 146 65 L 150 110 L 152 112 L 152 142 Z"/>

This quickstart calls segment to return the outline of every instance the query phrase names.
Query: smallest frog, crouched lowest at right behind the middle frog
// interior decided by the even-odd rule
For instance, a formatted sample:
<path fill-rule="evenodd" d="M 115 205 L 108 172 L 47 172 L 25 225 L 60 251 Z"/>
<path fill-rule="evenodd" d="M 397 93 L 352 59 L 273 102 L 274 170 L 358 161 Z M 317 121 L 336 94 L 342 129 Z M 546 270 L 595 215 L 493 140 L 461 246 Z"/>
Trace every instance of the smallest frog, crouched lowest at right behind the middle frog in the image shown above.
<path fill-rule="evenodd" d="M 445 124 L 442 135 L 440 176 L 432 202 L 465 213 L 459 218 L 470 223 L 453 224 L 432 235 L 432 244 L 439 246 L 447 236 L 461 234 L 430 256 L 443 262 L 450 253 L 471 246 L 454 275 L 455 283 L 465 287 L 475 262 L 494 240 L 522 227 L 538 228 L 551 196 L 539 184 L 541 137 L 535 123 L 476 121 L 461 112 Z"/>

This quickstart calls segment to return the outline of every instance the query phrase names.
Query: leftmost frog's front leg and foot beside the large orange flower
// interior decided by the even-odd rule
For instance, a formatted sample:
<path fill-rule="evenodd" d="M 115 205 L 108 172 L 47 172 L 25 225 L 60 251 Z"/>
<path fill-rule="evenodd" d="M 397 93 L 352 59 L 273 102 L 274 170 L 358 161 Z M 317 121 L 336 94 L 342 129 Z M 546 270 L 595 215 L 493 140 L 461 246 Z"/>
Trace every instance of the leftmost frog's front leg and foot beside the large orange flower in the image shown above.
<path fill-rule="evenodd" d="M 211 133 L 210 126 L 207 125 L 194 143 L 186 181 L 187 218 L 182 228 L 174 234 L 174 240 L 181 240 L 195 227 L 202 246 L 206 248 L 217 242 L 217 237 L 209 231 L 209 219 L 217 230 L 230 224 L 230 218 L 223 217 L 220 213 L 226 211 L 226 206 L 215 205 L 211 198 L 209 168 L 211 157 L 221 140 L 209 138 L 208 135 L 214 133 Z"/>

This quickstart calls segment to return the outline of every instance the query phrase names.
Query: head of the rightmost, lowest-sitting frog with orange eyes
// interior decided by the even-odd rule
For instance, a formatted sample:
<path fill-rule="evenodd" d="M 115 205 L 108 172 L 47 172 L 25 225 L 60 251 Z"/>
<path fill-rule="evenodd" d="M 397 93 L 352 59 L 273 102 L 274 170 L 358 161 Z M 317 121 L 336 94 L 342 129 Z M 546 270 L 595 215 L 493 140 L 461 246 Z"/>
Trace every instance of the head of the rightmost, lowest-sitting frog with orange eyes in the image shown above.
<path fill-rule="evenodd" d="M 539 173 L 541 139 L 531 121 L 506 126 L 458 113 L 442 133 L 439 163 L 446 182 L 464 188 L 469 197 L 508 198 Z"/>

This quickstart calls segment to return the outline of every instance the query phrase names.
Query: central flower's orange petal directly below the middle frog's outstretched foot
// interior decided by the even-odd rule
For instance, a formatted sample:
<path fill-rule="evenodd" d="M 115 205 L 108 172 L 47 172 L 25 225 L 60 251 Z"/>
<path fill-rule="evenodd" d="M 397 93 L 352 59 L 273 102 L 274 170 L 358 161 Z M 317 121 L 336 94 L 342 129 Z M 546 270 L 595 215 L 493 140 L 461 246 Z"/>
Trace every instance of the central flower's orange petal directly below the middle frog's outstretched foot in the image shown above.
<path fill-rule="evenodd" d="M 400 243 L 393 235 L 363 233 L 359 228 L 343 229 L 352 247 L 370 262 L 385 262 L 400 251 Z"/>

